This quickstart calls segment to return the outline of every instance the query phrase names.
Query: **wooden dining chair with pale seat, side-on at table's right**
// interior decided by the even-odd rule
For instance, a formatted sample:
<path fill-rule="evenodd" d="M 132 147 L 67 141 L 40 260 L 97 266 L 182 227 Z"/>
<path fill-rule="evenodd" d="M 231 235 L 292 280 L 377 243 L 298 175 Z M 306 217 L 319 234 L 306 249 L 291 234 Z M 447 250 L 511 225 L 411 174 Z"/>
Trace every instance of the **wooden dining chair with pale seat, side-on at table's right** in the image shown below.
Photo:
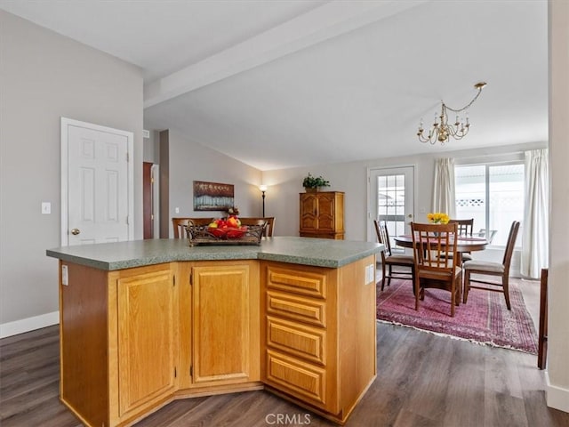
<path fill-rule="evenodd" d="M 511 310 L 511 305 L 509 303 L 509 265 L 512 260 L 512 254 L 514 254 L 517 230 L 519 230 L 519 222 L 514 221 L 509 229 L 508 241 L 506 243 L 506 250 L 504 251 L 502 262 L 472 260 L 462 264 L 462 268 L 464 269 L 464 295 L 462 296 L 462 302 L 467 302 L 470 289 L 484 289 L 486 291 L 503 293 L 506 298 L 506 306 L 508 307 L 508 310 Z M 501 278 L 501 283 L 481 278 L 474 279 L 472 278 L 472 274 L 498 276 Z M 472 283 L 480 283 L 488 286 L 474 286 Z"/>

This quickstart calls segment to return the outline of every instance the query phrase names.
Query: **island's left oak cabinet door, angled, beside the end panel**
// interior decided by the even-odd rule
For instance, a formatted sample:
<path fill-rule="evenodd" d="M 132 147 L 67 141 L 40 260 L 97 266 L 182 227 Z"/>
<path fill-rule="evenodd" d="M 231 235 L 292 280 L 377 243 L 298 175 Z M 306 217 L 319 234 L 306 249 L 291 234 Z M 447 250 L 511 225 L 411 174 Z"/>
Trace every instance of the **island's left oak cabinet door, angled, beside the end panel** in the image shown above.
<path fill-rule="evenodd" d="M 117 280 L 119 416 L 175 391 L 171 270 Z"/>

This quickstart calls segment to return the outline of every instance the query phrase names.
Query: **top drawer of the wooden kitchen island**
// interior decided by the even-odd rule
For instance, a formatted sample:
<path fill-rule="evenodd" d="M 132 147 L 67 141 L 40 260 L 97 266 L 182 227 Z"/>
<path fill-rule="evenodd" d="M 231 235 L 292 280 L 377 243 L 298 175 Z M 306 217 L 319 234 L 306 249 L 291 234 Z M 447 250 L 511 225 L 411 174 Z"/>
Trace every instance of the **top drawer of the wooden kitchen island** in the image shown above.
<path fill-rule="evenodd" d="M 267 287 L 294 294 L 325 298 L 326 275 L 316 271 L 292 270 L 269 265 Z"/>

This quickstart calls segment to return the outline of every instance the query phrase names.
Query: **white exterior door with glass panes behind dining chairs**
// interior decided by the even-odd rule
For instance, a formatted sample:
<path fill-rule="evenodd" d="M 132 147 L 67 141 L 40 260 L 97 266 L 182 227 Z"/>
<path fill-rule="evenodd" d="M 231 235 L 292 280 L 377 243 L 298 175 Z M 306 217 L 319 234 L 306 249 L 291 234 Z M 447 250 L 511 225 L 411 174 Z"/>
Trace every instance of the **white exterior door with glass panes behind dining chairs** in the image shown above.
<path fill-rule="evenodd" d="M 414 213 L 414 167 L 370 169 L 369 185 L 371 240 L 376 238 L 373 220 L 387 222 L 390 238 L 409 233 Z M 397 251 L 393 241 L 391 248 Z"/>

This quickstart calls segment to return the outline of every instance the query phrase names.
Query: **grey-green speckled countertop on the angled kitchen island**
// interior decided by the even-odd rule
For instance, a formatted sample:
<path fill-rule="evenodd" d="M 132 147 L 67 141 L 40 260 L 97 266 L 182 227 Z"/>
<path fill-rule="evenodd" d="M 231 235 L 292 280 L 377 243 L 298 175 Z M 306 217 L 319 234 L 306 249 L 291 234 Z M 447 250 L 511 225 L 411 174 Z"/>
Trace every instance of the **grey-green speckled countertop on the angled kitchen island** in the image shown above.
<path fill-rule="evenodd" d="M 100 270 L 177 261 L 268 260 L 338 268 L 378 254 L 377 243 L 325 238 L 263 238 L 260 246 L 189 246 L 185 238 L 131 240 L 97 245 L 62 246 L 47 256 Z"/>

